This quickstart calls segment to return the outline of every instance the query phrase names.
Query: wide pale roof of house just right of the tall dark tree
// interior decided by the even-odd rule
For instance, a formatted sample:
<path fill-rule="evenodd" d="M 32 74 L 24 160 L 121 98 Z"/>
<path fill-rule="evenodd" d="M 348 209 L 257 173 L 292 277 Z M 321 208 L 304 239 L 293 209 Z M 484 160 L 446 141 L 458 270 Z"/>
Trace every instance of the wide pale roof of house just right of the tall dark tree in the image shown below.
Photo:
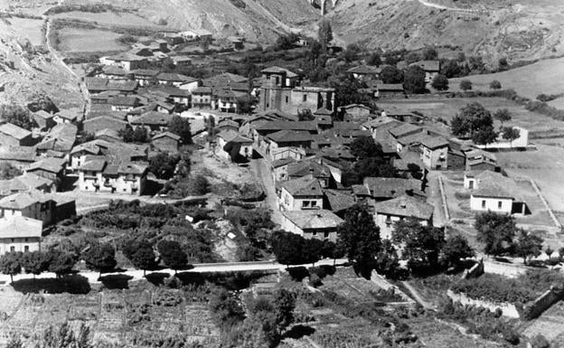
<path fill-rule="evenodd" d="M 379 214 L 416 218 L 425 221 L 431 219 L 434 210 L 435 207 L 431 204 L 420 202 L 418 199 L 406 195 L 374 204 L 374 212 Z"/>

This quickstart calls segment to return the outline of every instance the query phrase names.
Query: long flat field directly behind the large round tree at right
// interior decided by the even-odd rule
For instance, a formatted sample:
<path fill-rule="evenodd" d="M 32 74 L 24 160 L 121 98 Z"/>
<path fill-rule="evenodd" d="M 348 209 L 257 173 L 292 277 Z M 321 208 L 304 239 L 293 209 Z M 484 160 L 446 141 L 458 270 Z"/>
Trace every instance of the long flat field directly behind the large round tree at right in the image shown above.
<path fill-rule="evenodd" d="M 499 108 L 507 108 L 512 114 L 512 121 L 506 125 L 520 126 L 529 129 L 530 137 L 564 134 L 564 122 L 531 112 L 521 105 L 503 98 L 454 98 L 454 99 L 400 99 L 381 100 L 378 106 L 391 111 L 418 110 L 430 118 L 442 118 L 447 122 L 467 104 L 478 102 L 484 108 L 494 112 Z M 497 125 L 499 125 L 496 122 Z"/>

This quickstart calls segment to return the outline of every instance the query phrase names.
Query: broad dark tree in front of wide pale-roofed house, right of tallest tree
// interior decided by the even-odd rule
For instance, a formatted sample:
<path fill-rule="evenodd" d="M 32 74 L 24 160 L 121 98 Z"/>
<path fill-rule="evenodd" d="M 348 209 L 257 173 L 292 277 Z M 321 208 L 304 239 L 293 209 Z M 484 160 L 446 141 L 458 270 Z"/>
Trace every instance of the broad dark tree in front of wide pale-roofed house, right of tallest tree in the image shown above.
<path fill-rule="evenodd" d="M 396 222 L 392 240 L 403 245 L 402 258 L 412 270 L 429 271 L 438 268 L 440 251 L 445 244 L 445 232 L 432 226 L 423 226 L 417 219 Z"/>

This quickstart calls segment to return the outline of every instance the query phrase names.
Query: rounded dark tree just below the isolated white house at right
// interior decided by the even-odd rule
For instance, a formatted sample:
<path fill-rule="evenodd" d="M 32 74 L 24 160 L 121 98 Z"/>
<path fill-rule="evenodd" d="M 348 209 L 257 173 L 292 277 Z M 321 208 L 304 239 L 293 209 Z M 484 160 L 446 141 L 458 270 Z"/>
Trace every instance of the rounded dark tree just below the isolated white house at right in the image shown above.
<path fill-rule="evenodd" d="M 476 215 L 474 227 L 487 255 L 503 253 L 515 235 L 515 220 L 511 215 L 482 212 Z"/>

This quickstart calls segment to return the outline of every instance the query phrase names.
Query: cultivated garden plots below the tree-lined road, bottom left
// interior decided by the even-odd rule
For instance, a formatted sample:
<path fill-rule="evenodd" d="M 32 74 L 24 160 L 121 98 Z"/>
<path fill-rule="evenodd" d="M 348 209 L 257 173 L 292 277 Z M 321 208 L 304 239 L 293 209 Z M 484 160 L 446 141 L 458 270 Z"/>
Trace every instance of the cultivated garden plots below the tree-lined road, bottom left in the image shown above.
<path fill-rule="evenodd" d="M 219 332 L 211 323 L 205 303 L 184 298 L 179 290 L 157 288 L 149 283 L 131 284 L 125 290 L 89 291 L 83 294 L 27 294 L 3 287 L 5 299 L 0 342 L 10 333 L 24 337 L 42 334 L 50 325 L 68 321 L 89 325 L 95 342 L 115 346 L 154 346 L 159 339 L 188 334 L 192 342 L 216 346 Z M 208 346 L 208 345 L 205 345 Z"/>

